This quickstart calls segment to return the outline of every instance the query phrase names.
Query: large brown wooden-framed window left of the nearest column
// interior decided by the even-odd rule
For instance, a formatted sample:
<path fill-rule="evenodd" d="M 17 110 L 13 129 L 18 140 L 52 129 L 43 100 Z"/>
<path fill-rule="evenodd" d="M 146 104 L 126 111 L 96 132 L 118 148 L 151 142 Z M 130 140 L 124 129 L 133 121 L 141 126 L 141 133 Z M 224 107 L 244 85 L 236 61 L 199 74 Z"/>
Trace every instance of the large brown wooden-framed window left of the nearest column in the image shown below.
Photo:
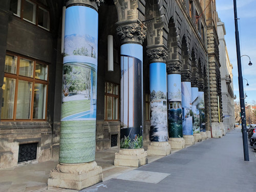
<path fill-rule="evenodd" d="M 46 120 L 48 65 L 7 53 L 1 120 Z"/>

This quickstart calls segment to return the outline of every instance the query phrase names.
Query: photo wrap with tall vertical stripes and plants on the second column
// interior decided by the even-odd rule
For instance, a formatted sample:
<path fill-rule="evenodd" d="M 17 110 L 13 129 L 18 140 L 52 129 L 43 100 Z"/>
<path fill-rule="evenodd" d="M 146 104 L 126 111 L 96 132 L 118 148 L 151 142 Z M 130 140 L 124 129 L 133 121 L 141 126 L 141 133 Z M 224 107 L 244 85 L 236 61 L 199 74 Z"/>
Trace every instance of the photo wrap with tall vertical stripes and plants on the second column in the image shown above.
<path fill-rule="evenodd" d="M 143 48 L 121 46 L 120 148 L 143 147 Z"/>

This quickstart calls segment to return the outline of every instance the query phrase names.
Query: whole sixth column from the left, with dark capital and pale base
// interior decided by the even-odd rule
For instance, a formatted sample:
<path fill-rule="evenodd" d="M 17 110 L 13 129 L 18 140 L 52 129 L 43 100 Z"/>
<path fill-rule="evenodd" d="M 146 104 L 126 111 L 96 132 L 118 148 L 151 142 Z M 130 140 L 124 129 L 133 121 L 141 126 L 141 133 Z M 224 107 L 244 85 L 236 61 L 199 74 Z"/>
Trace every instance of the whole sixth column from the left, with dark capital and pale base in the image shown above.
<path fill-rule="evenodd" d="M 199 94 L 198 94 L 198 76 L 193 74 L 191 77 L 191 98 L 192 98 L 192 118 L 193 118 L 193 135 L 196 142 L 201 142 L 202 137 L 200 134 L 200 114 L 199 114 Z"/>

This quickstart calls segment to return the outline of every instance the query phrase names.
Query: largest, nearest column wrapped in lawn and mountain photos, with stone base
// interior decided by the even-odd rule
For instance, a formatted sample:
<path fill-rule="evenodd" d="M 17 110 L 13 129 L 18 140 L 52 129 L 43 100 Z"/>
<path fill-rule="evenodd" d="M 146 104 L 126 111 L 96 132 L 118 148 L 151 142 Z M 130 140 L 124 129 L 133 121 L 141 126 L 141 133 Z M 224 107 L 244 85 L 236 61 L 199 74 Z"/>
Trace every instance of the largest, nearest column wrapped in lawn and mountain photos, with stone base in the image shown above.
<path fill-rule="evenodd" d="M 66 6 L 59 164 L 48 186 L 80 190 L 102 181 L 94 161 L 99 1 Z"/>

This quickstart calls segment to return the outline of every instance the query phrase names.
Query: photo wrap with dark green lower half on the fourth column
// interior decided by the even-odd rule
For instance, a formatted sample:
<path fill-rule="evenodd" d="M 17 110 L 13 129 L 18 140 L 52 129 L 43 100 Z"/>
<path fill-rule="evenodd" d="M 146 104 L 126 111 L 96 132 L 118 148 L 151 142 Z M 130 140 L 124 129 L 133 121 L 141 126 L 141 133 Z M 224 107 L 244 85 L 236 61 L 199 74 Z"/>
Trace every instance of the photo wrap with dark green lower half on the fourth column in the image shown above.
<path fill-rule="evenodd" d="M 167 75 L 167 102 L 169 137 L 181 138 L 183 137 L 183 134 L 180 74 Z"/>

